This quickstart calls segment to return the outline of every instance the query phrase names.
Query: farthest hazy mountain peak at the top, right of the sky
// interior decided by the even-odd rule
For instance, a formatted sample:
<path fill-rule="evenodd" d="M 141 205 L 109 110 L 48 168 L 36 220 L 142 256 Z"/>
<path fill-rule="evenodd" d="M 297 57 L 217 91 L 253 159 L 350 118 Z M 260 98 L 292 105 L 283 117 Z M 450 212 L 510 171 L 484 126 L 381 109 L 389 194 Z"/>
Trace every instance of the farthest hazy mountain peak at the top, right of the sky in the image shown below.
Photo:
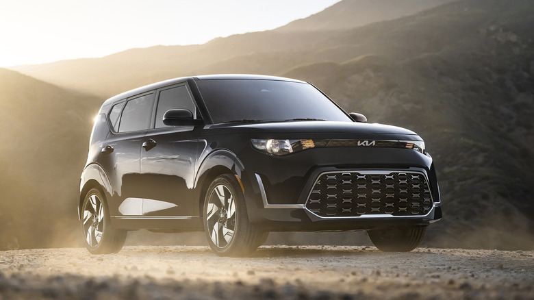
<path fill-rule="evenodd" d="M 370 23 L 411 16 L 455 0 L 350 0 L 340 1 L 307 18 L 279 27 L 277 32 L 318 32 L 351 29 Z"/>

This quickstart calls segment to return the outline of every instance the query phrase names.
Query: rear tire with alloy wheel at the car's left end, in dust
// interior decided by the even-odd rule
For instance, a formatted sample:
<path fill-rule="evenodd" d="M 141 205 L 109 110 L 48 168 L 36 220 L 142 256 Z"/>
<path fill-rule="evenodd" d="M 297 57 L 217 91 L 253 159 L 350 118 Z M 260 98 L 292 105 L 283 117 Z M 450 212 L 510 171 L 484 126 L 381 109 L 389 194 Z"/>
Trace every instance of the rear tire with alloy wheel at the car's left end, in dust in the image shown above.
<path fill-rule="evenodd" d="M 123 249 L 127 232 L 112 227 L 110 210 L 96 188 L 89 190 L 81 205 L 81 229 L 86 248 L 92 254 L 116 253 Z"/>

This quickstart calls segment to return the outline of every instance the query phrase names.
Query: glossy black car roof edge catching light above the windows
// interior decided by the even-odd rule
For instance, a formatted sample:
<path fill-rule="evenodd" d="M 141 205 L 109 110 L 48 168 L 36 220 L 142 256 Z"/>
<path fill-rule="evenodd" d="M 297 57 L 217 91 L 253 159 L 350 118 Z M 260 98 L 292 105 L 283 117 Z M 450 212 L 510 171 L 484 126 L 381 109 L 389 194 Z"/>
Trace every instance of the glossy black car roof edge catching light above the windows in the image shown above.
<path fill-rule="evenodd" d="M 277 81 L 284 81 L 284 82 L 305 83 L 300 80 L 285 78 L 285 77 L 276 77 L 276 76 L 267 76 L 267 75 L 249 75 L 249 74 L 217 74 L 217 75 L 199 75 L 199 76 L 191 76 L 191 77 L 179 77 L 179 78 L 174 78 L 174 79 L 168 79 L 163 82 L 156 82 L 155 84 L 149 84 L 147 86 L 142 86 L 140 88 L 135 88 L 133 90 L 120 93 L 119 95 L 116 95 L 104 101 L 104 103 L 102 104 L 102 107 L 110 103 L 113 103 L 117 100 L 120 100 L 120 99 L 126 99 L 128 97 L 132 97 L 132 96 L 141 94 L 143 92 L 148 92 L 149 90 L 162 88 L 164 86 L 170 86 L 173 84 L 178 84 L 180 82 L 186 82 L 189 79 L 192 79 L 192 80 L 257 79 L 257 80 L 277 80 Z"/>

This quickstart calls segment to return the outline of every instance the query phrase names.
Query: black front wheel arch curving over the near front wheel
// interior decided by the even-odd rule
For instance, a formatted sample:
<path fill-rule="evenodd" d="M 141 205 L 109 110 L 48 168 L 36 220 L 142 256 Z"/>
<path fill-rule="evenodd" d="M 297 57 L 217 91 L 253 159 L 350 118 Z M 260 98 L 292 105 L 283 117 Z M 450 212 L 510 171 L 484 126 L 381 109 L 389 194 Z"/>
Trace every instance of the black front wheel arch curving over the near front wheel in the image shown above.
<path fill-rule="evenodd" d="M 202 216 L 204 198 L 207 188 L 212 184 L 214 179 L 223 174 L 233 174 L 242 178 L 244 166 L 239 158 L 231 151 L 219 149 L 209 153 L 199 167 L 198 175 L 195 180 L 195 189 L 199 192 L 196 194 L 196 214 Z"/>

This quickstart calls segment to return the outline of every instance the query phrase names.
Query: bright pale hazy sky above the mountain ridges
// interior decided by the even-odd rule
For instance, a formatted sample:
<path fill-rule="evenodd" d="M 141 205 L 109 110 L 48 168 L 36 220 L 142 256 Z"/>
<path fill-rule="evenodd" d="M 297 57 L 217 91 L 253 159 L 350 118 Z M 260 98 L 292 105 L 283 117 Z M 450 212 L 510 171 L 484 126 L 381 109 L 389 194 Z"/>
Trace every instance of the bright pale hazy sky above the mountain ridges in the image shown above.
<path fill-rule="evenodd" d="M 0 0 L 0 67 L 203 44 L 275 29 L 340 0 Z"/>

